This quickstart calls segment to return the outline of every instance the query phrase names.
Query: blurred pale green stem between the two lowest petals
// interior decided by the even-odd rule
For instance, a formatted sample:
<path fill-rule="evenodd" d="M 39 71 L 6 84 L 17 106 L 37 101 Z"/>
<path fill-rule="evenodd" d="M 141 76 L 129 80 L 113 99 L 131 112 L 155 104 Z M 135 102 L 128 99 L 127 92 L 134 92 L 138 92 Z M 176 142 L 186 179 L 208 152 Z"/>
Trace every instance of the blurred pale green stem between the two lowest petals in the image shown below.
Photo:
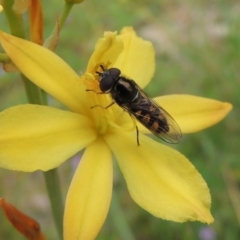
<path fill-rule="evenodd" d="M 129 224 L 120 208 L 118 196 L 113 189 L 110 215 L 121 239 L 135 240 L 135 237 L 129 227 Z"/>

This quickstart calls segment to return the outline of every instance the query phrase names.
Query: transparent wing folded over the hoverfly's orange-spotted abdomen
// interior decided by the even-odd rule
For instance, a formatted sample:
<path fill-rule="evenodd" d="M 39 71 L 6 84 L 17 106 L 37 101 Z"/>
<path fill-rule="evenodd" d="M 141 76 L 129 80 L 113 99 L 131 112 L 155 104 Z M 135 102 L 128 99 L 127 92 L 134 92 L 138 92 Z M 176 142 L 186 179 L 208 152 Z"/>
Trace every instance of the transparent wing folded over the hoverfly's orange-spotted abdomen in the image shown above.
<path fill-rule="evenodd" d="M 136 88 L 140 94 L 138 103 L 127 103 L 122 107 L 157 137 L 168 143 L 178 143 L 182 133 L 175 120 L 137 84 Z"/>

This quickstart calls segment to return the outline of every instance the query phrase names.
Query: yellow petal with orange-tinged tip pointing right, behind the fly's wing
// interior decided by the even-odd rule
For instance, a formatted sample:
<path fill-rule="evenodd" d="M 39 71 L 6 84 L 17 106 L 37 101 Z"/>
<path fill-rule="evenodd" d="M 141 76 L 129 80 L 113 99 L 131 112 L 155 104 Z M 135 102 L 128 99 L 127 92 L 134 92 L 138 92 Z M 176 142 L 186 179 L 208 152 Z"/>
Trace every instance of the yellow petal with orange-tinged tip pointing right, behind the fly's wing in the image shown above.
<path fill-rule="evenodd" d="M 154 98 L 177 122 L 183 133 L 193 133 L 220 122 L 232 105 L 192 95 L 167 95 Z"/>

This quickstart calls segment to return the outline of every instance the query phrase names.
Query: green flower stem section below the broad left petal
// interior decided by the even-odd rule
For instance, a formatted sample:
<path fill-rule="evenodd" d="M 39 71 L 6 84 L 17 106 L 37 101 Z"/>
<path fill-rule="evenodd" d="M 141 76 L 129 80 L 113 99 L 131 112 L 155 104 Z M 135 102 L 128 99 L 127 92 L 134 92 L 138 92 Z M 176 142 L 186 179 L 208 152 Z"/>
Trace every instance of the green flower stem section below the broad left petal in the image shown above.
<path fill-rule="evenodd" d="M 44 177 L 59 239 L 63 239 L 63 200 L 57 169 L 55 168 L 44 172 Z"/>

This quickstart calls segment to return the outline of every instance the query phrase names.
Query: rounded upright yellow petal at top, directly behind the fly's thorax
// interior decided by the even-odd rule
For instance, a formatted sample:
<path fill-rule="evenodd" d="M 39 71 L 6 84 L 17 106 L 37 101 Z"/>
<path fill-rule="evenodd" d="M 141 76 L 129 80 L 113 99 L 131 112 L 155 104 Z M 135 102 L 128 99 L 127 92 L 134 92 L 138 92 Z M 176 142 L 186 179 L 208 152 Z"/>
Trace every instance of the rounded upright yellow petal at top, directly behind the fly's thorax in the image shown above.
<path fill-rule="evenodd" d="M 123 75 L 144 88 L 155 71 L 155 52 L 152 43 L 138 37 L 131 27 L 124 28 L 118 37 L 124 43 L 124 50 L 114 67 L 119 68 Z"/>

